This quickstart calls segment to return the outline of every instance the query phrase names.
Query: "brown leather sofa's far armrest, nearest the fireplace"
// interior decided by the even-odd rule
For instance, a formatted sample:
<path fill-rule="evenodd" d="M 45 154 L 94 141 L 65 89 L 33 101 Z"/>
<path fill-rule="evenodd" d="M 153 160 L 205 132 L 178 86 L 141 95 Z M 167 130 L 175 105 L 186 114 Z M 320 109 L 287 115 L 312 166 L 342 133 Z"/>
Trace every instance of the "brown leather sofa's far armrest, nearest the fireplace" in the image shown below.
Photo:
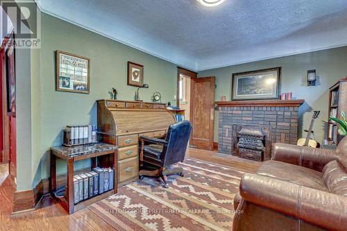
<path fill-rule="evenodd" d="M 276 143 L 273 145 L 271 160 L 322 171 L 325 164 L 336 158 L 335 151 L 332 150 Z"/>

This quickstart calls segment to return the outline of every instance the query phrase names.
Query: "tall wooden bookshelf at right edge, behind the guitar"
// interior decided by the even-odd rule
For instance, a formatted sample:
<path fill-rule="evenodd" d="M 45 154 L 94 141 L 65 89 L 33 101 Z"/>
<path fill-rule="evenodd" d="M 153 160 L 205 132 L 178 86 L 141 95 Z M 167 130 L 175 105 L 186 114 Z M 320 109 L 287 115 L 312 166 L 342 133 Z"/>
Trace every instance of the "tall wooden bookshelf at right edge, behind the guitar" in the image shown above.
<path fill-rule="evenodd" d="M 329 89 L 328 117 L 341 119 L 341 112 L 347 113 L 347 77 L 339 80 Z M 328 119 L 328 144 L 339 144 L 341 135 L 337 132 L 339 125 Z"/>

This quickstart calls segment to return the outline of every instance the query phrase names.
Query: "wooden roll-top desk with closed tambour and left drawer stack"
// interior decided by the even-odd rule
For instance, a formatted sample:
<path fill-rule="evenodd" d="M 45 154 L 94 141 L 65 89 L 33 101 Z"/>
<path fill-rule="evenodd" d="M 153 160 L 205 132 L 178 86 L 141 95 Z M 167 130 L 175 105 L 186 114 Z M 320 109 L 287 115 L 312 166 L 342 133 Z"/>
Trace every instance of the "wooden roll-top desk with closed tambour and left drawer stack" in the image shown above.
<path fill-rule="evenodd" d="M 139 135 L 163 137 L 176 122 L 164 103 L 99 100 L 98 135 L 118 149 L 118 186 L 137 180 Z"/>

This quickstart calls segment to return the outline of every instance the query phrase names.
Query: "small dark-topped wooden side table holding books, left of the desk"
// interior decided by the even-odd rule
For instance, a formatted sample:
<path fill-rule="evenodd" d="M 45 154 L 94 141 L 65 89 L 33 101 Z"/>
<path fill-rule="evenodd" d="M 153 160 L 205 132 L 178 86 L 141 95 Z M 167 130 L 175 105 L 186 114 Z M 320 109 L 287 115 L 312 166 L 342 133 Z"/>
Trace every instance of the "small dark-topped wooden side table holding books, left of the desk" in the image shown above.
<path fill-rule="evenodd" d="M 92 144 L 82 145 L 74 147 L 57 146 L 51 148 L 51 193 L 56 189 L 56 159 L 67 160 L 67 191 L 64 198 L 56 198 L 58 203 L 69 213 L 83 209 L 89 205 L 92 205 L 99 200 L 107 198 L 113 194 L 117 194 L 118 185 L 118 152 L 117 146 L 112 144 Z M 111 167 L 114 169 L 114 189 L 106 191 L 103 194 L 93 196 L 87 200 L 83 200 L 76 205 L 74 204 L 74 162 L 78 160 L 92 159 L 92 168 L 96 167 L 96 164 L 102 168 Z M 52 195 L 54 196 L 54 195 Z"/>

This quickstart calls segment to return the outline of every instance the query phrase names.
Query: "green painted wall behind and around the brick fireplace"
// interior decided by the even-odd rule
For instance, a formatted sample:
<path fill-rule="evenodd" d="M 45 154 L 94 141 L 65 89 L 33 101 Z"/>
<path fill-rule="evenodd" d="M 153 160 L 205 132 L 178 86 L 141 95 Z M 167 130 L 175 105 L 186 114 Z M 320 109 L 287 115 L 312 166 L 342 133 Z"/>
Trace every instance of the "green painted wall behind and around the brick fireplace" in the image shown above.
<path fill-rule="evenodd" d="M 232 73 L 254 71 L 271 67 L 282 67 L 281 92 L 293 92 L 296 99 L 305 99 L 299 112 L 299 137 L 306 135 L 312 118 L 312 110 L 320 110 L 321 116 L 314 123 L 316 139 L 321 142 L 326 137 L 325 122 L 328 119 L 328 88 L 337 80 L 347 76 L 347 46 L 314 51 L 281 58 L 249 62 L 218 69 L 210 69 L 198 73 L 198 77 L 216 76 L 216 101 L 221 96 L 231 99 Z M 307 87 L 307 70 L 316 69 L 318 81 L 315 87 Z M 215 112 L 214 140 L 218 141 L 218 112 Z"/>

